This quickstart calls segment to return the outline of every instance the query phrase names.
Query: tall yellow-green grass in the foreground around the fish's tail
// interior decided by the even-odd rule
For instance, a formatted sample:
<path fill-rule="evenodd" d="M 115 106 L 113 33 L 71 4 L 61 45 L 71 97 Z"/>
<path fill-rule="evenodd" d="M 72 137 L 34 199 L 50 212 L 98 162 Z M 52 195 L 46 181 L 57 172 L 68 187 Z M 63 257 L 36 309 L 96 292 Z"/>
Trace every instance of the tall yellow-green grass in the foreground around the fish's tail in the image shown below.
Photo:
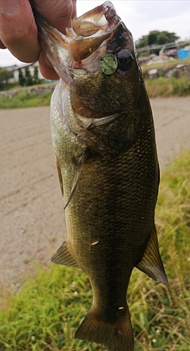
<path fill-rule="evenodd" d="M 161 179 L 156 226 L 169 286 L 134 270 L 128 303 L 135 351 L 190 350 L 190 156 L 177 159 Z M 0 350 L 100 351 L 74 339 L 88 311 L 88 278 L 72 267 L 36 266 L 20 293 L 1 296 Z M 1 294 L 4 289 L 1 289 Z"/>

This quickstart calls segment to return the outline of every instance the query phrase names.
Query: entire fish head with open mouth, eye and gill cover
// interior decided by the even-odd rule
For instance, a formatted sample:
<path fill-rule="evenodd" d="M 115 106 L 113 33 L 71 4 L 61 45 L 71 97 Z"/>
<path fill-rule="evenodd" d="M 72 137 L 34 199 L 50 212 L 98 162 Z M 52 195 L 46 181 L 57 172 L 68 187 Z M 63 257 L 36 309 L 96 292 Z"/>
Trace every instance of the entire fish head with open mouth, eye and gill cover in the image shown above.
<path fill-rule="evenodd" d="M 69 91 L 73 112 L 68 118 L 70 128 L 76 125 L 71 119 L 77 119 L 79 128 L 75 128 L 75 133 L 81 135 L 89 128 L 92 132 L 100 126 L 113 125 L 125 111 L 122 119 L 128 119 L 128 124 L 119 121 L 118 133 L 124 123 L 128 138 L 134 139 L 134 126 L 138 124 L 134 119 L 139 119 L 136 110 L 144 100 L 142 95 L 146 95 L 142 94 L 144 82 L 133 35 L 111 2 L 72 20 L 72 28 L 66 28 L 67 35 L 38 15 L 36 22 L 41 44 Z"/>

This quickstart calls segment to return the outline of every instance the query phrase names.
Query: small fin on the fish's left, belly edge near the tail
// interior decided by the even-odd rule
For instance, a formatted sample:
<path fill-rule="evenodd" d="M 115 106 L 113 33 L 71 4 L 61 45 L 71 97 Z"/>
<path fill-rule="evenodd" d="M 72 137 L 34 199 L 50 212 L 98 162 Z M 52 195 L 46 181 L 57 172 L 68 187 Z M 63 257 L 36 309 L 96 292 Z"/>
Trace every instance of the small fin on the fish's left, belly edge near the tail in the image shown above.
<path fill-rule="evenodd" d="M 57 250 L 51 262 L 57 263 L 57 265 L 69 265 L 72 267 L 79 267 L 76 263 L 76 260 L 73 258 L 72 254 L 68 248 L 68 241 L 64 241 L 60 249 Z"/>

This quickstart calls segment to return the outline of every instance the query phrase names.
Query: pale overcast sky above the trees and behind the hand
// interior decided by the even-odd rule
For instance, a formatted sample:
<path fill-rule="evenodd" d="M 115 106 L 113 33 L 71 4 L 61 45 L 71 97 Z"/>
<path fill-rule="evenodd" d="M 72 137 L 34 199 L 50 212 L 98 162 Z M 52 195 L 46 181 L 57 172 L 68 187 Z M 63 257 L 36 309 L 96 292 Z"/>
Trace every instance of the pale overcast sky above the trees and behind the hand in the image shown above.
<path fill-rule="evenodd" d="M 77 14 L 102 4 L 103 0 L 77 0 Z M 175 32 L 180 39 L 190 39 L 189 0 L 112 0 L 116 12 L 130 29 L 135 41 L 151 30 Z M 0 49 L 0 67 L 23 65 L 6 49 Z"/>

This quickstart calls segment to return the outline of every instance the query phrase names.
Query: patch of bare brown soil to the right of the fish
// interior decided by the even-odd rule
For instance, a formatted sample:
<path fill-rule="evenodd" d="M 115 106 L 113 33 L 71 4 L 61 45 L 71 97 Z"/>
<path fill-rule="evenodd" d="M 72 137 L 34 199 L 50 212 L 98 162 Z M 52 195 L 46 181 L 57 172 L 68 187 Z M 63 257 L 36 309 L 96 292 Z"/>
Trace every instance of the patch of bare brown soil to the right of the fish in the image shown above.
<path fill-rule="evenodd" d="M 190 97 L 151 99 L 161 172 L 190 147 Z"/>

